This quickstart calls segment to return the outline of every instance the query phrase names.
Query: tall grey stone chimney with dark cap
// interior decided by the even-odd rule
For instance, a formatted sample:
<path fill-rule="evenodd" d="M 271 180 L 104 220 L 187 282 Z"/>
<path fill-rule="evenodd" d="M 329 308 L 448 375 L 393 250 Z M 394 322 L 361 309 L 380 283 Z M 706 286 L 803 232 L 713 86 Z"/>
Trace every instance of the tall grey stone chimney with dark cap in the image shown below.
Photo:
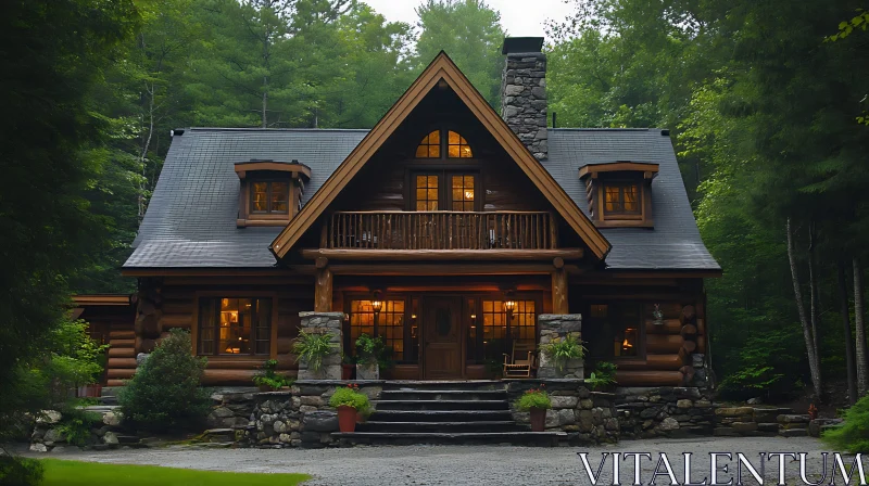
<path fill-rule="evenodd" d="M 549 153 L 546 55 L 542 37 L 507 37 L 501 78 L 501 117 L 539 161 Z"/>

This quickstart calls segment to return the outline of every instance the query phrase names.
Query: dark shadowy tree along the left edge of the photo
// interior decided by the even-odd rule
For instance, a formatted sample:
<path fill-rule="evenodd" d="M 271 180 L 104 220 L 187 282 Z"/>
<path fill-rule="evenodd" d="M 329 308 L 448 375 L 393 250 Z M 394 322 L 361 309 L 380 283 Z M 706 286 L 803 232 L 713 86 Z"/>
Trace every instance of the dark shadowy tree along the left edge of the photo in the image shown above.
<path fill-rule="evenodd" d="M 25 367 L 68 304 L 67 278 L 98 227 L 81 194 L 105 125 L 88 97 L 138 21 L 128 0 L 11 0 L 0 8 L 0 433 L 23 404 Z"/>

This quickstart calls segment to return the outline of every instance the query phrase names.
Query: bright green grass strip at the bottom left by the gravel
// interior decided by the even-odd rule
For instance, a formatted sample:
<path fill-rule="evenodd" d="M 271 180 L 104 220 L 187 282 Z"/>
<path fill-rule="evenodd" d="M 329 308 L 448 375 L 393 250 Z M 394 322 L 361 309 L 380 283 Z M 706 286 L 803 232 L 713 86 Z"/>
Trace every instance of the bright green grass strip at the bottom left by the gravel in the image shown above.
<path fill-rule="evenodd" d="M 43 459 L 40 462 L 46 466 L 42 486 L 293 486 L 311 478 L 307 474 L 225 473 L 56 459 Z"/>

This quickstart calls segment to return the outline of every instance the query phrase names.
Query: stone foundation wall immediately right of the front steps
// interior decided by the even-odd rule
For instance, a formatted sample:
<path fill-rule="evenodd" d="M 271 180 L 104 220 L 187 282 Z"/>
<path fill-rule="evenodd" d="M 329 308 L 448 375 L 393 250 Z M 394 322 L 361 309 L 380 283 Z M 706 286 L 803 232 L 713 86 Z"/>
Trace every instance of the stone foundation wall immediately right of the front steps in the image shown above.
<path fill-rule="evenodd" d="M 530 414 L 516 410 L 513 404 L 526 391 L 542 387 L 552 399 L 552 409 L 546 411 L 546 431 L 566 432 L 570 445 L 618 442 L 615 395 L 590 392 L 581 380 L 506 382 L 513 420 L 517 423 L 529 423 Z"/>

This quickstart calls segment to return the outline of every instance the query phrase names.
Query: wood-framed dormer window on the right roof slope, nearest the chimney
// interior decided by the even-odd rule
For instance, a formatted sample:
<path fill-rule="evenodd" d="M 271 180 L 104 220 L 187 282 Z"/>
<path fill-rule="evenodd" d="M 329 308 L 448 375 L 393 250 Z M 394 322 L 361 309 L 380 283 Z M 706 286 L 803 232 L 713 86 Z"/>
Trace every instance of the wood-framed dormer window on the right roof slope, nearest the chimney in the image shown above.
<path fill-rule="evenodd" d="M 589 195 L 589 212 L 599 228 L 652 228 L 652 179 L 657 164 L 614 162 L 579 170 Z"/>

